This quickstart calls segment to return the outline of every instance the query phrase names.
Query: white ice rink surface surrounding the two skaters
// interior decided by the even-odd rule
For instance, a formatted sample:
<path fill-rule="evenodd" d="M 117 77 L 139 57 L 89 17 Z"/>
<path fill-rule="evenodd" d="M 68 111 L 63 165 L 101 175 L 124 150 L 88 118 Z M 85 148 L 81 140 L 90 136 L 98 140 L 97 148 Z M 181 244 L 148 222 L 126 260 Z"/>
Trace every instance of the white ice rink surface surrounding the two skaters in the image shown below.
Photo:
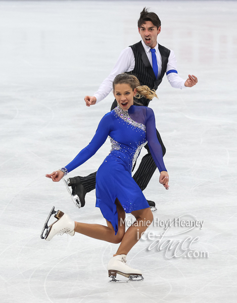
<path fill-rule="evenodd" d="M 196 217 L 204 225 L 172 227 L 163 239 L 199 237 L 192 244 L 197 258 L 171 258 L 174 249 L 149 250 L 154 240 L 140 240 L 128 263 L 145 280 L 112 284 L 107 264 L 118 244 L 80 234 L 40 239 L 53 206 L 74 220 L 105 224 L 94 190 L 78 210 L 63 182 L 44 175 L 67 165 L 110 111 L 112 93 L 90 108 L 84 96 L 97 90 L 122 49 L 139 41 L 145 5 L 161 19 L 158 42 L 174 50 L 179 75 L 194 74 L 198 84 L 178 90 L 165 76 L 151 102 L 170 189 L 157 171 L 144 193 L 156 202 L 156 220 Z M 236 302 L 236 15 L 230 1 L 0 2 L 1 303 Z M 69 177 L 96 171 L 109 150 L 107 140 Z M 160 239 L 164 227 L 149 231 Z"/>

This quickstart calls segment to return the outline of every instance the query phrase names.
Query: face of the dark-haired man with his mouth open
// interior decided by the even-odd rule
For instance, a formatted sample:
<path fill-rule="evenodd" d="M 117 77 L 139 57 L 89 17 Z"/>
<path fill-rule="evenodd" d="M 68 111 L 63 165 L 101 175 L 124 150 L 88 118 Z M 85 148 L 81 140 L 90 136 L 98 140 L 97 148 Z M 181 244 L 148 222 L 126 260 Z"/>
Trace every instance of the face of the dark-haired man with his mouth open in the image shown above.
<path fill-rule="evenodd" d="M 138 32 L 144 43 L 154 48 L 157 43 L 157 36 L 161 32 L 161 27 L 157 28 L 151 21 L 147 21 L 138 28 Z"/>

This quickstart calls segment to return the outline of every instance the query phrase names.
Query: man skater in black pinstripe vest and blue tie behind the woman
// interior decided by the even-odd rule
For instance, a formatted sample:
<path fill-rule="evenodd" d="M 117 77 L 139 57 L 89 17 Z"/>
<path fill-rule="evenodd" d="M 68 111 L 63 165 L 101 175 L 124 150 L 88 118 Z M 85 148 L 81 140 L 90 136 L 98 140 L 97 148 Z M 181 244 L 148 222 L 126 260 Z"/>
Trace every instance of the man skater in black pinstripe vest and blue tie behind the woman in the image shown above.
<path fill-rule="evenodd" d="M 169 83 L 175 88 L 192 87 L 198 82 L 197 77 L 194 75 L 188 75 L 187 80 L 180 78 L 176 69 L 174 52 L 157 43 L 157 36 L 161 32 L 161 21 L 155 13 L 148 12 L 144 8 L 140 13 L 137 25 L 141 41 L 125 48 L 121 52 L 112 72 L 103 81 L 98 91 L 93 96 L 85 96 L 86 106 L 89 107 L 103 100 L 111 92 L 114 78 L 118 74 L 125 72 L 134 74 L 140 81 L 140 85 L 147 85 L 150 89 L 155 90 L 160 85 L 165 73 Z M 140 105 L 148 106 L 150 100 L 140 98 L 138 102 Z M 116 100 L 114 100 L 111 110 L 115 107 L 117 107 Z M 157 137 L 162 146 L 164 156 L 166 149 L 158 131 Z M 133 179 L 141 190 L 147 187 L 157 168 L 148 144 L 145 148 L 148 150 L 148 154 L 143 157 L 136 173 L 133 175 Z M 77 194 L 81 205 L 84 206 L 86 193 L 96 187 L 96 172 L 86 177 L 70 178 L 69 186 L 72 186 L 72 194 Z M 154 201 L 148 201 L 148 203 L 150 207 L 155 207 Z"/>

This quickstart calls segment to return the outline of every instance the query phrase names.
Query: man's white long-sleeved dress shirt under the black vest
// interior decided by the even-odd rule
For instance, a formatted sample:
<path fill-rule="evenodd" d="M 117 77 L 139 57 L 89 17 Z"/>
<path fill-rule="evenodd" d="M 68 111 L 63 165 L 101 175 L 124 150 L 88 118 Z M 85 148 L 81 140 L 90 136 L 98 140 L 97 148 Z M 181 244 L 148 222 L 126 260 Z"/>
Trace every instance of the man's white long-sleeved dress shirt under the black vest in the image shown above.
<path fill-rule="evenodd" d="M 147 53 L 148 59 L 152 66 L 152 53 L 150 52 L 151 47 L 146 45 L 143 40 L 141 40 L 141 43 L 143 43 L 143 47 Z M 156 44 L 156 46 L 154 48 L 156 49 L 156 58 L 157 58 L 157 64 L 158 64 L 158 79 L 159 79 L 159 77 L 161 76 L 161 54 L 158 49 L 158 43 Z M 93 96 L 95 96 L 97 98 L 96 103 L 103 100 L 111 92 L 111 90 L 113 89 L 114 78 L 117 75 L 122 74 L 124 72 L 132 71 L 134 69 L 134 66 L 135 66 L 135 58 L 134 58 L 132 49 L 131 49 L 131 47 L 126 47 L 121 52 L 121 54 L 118 58 L 118 61 L 116 62 L 112 72 L 102 82 L 98 91 L 96 93 L 94 93 Z M 166 73 L 170 70 L 177 71 L 176 59 L 174 56 L 174 52 L 171 50 L 170 50 L 170 55 L 168 58 Z M 186 80 L 183 80 L 182 78 L 180 78 L 177 73 L 173 73 L 173 72 L 169 73 L 167 75 L 167 78 L 172 87 L 181 88 L 181 89 L 185 87 L 184 83 Z"/>

